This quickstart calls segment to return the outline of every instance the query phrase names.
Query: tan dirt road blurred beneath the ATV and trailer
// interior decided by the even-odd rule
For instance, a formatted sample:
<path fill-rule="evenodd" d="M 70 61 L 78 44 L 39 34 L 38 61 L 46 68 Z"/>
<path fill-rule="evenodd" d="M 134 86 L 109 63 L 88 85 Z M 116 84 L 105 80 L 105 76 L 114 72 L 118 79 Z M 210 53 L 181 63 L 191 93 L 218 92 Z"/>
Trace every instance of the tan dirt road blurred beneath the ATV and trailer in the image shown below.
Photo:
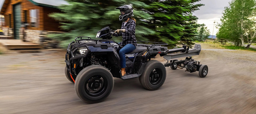
<path fill-rule="evenodd" d="M 144 89 L 138 78 L 115 78 L 112 93 L 97 104 L 80 100 L 66 79 L 65 50 L 0 55 L 0 114 L 255 114 L 256 53 L 202 47 L 193 58 L 208 65 L 205 78 L 166 68 L 165 83 L 155 91 Z"/>

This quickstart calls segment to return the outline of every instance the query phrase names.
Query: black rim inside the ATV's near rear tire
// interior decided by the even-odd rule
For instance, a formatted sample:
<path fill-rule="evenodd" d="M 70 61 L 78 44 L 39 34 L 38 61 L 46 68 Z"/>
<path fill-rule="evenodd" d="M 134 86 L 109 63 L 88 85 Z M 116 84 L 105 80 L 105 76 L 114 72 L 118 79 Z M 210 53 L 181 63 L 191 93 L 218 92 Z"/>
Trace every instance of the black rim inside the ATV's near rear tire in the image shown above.
<path fill-rule="evenodd" d="M 161 82 L 163 78 L 163 73 L 160 68 L 155 68 L 151 71 L 149 75 L 149 82 L 153 85 L 157 85 Z"/>

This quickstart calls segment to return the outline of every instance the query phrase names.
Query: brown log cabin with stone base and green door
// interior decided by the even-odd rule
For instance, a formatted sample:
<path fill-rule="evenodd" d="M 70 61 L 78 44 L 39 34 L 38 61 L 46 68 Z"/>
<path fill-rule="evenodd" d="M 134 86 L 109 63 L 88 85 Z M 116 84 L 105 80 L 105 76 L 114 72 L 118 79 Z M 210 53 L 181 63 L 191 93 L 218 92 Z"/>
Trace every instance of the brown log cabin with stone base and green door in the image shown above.
<path fill-rule="evenodd" d="M 68 4 L 65 0 L 4 0 L 0 14 L 4 15 L 2 26 L 5 36 L 23 39 L 40 45 L 47 45 L 52 39 L 48 33 L 63 32 L 59 22 L 49 17 L 52 12 L 60 12 L 57 8 Z"/>

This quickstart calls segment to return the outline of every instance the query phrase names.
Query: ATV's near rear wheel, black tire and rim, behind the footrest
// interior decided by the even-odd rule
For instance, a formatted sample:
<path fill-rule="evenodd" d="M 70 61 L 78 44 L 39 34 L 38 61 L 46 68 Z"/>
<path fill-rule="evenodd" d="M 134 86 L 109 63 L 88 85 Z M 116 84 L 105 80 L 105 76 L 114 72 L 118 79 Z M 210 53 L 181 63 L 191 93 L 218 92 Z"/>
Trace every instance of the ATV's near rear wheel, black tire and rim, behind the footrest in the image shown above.
<path fill-rule="evenodd" d="M 143 74 L 139 77 L 140 84 L 148 90 L 159 89 L 165 81 L 166 69 L 156 60 L 148 61 Z"/>

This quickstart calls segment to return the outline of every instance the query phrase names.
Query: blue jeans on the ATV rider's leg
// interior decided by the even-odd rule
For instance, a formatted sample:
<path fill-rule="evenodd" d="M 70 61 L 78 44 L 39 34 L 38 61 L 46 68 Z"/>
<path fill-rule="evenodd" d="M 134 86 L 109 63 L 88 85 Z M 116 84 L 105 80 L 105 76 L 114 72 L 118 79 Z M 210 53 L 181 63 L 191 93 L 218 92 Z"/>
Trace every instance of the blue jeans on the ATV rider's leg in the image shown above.
<path fill-rule="evenodd" d="M 132 44 L 126 44 L 122 49 L 119 51 L 119 57 L 121 61 L 121 68 L 125 68 L 125 54 L 131 53 L 136 47 Z"/>

